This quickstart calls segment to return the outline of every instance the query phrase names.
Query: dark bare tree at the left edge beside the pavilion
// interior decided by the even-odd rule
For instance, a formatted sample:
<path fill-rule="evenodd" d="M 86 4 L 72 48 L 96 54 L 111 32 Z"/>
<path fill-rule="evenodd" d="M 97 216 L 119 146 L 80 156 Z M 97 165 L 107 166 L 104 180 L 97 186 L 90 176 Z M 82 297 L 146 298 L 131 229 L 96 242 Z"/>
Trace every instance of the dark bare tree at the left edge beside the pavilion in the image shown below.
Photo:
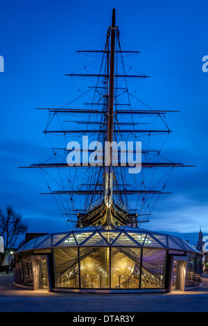
<path fill-rule="evenodd" d="M 8 249 L 14 248 L 17 238 L 28 230 L 28 225 L 21 220 L 21 215 L 8 206 L 5 211 L 0 209 L 0 236 L 4 241 L 4 253 L 1 255 L 0 265 L 3 264 Z"/>

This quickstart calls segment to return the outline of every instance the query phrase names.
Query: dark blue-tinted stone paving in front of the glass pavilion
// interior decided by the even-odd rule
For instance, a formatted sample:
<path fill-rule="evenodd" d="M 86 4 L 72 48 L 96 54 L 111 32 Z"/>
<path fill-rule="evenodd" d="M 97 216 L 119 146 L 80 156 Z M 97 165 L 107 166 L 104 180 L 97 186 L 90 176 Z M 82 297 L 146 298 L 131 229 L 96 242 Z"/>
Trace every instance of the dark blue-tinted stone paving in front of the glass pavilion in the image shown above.
<path fill-rule="evenodd" d="M 20 289 L 0 274 L 0 312 L 207 312 L 208 277 L 202 288 L 175 293 L 67 293 Z"/>

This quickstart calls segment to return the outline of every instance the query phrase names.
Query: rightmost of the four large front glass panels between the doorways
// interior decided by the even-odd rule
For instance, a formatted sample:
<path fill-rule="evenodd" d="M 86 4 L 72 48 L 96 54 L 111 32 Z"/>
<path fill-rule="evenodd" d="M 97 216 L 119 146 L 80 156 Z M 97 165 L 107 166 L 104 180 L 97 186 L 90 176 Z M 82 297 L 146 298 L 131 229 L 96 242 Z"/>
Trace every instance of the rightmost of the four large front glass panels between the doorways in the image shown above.
<path fill-rule="evenodd" d="M 141 289 L 164 289 L 166 250 L 143 249 Z"/>

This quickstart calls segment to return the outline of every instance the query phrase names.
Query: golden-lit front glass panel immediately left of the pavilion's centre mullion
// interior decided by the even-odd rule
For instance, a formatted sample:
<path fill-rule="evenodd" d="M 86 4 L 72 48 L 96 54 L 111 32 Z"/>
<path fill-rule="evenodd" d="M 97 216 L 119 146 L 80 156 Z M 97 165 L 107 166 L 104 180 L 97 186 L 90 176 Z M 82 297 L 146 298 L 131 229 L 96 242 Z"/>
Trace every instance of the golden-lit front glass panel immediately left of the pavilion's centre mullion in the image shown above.
<path fill-rule="evenodd" d="M 80 248 L 81 287 L 109 289 L 110 248 Z"/>

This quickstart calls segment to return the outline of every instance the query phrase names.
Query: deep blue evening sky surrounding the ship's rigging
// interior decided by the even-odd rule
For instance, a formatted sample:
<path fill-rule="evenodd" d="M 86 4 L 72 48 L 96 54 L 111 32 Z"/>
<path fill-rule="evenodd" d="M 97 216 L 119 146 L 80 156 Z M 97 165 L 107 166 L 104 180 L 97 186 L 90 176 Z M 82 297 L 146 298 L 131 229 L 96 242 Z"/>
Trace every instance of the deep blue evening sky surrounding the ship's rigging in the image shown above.
<path fill-rule="evenodd" d="M 208 234 L 208 55 L 205 0 L 19 0 L 1 1 L 0 55 L 0 207 L 12 205 L 28 232 L 67 230 L 40 171 L 17 169 L 51 155 L 44 130 L 47 113 L 74 98 L 70 78 L 80 67 L 77 49 L 105 35 L 116 8 L 121 41 L 141 51 L 138 71 L 151 78 L 139 98 L 153 108 L 180 110 L 168 115 L 173 132 L 166 157 L 196 165 L 175 169 L 160 198 L 150 230 L 169 232 L 196 243 L 200 225 Z M 103 41 L 105 42 L 105 38 Z"/>

